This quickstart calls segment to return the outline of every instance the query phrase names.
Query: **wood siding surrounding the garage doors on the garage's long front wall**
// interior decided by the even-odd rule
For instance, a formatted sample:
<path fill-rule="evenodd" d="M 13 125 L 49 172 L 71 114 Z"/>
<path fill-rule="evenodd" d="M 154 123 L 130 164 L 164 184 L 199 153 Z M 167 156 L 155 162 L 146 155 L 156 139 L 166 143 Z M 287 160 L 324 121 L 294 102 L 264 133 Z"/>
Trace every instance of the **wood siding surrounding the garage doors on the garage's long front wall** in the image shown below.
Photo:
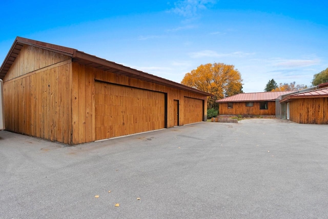
<path fill-rule="evenodd" d="M 187 120 L 185 116 L 185 96 L 199 99 L 202 101 L 203 109 L 204 109 L 204 115 L 203 117 L 206 117 L 207 112 L 207 97 L 202 96 L 200 94 L 187 92 L 178 90 L 175 88 L 170 88 L 162 85 L 157 85 L 154 83 L 141 81 L 136 78 L 127 77 L 124 75 L 115 74 L 112 72 L 95 69 L 93 67 L 88 67 L 84 65 L 80 65 L 77 63 L 73 64 L 73 85 L 72 85 L 72 117 L 73 117 L 73 144 L 80 144 L 84 142 L 90 142 L 96 140 L 96 128 L 95 128 L 95 80 L 99 82 L 107 82 L 107 83 L 113 83 L 116 85 L 123 85 L 123 86 L 129 86 L 132 88 L 140 88 L 140 89 L 146 89 L 146 90 L 152 90 L 157 91 L 161 93 L 165 93 L 167 95 L 167 124 L 166 127 L 170 128 L 174 126 L 174 99 L 179 101 L 179 125 L 186 125 L 191 123 L 188 121 L 188 117 L 191 117 L 190 115 L 187 115 Z M 81 76 L 85 75 L 85 76 Z M 89 79 L 81 79 L 81 78 L 89 78 Z M 85 86 L 89 85 L 89 91 L 85 90 Z M 85 98 L 84 95 L 88 94 L 90 95 L 90 91 L 92 92 L 92 95 L 88 98 Z M 87 107 L 84 104 L 78 104 L 79 99 L 82 98 L 82 101 L 85 101 L 86 106 L 92 106 L 93 111 L 89 110 L 88 112 Z M 84 100 L 83 100 L 84 99 Z M 76 103 L 75 103 L 76 102 Z M 86 111 L 86 112 L 84 112 Z M 89 119 L 87 119 L 87 115 L 89 115 Z M 92 119 L 90 119 L 90 117 Z M 193 116 L 194 117 L 194 116 Z M 186 120 L 186 121 L 185 121 Z M 200 120 L 199 118 L 197 121 Z M 203 121 L 200 120 L 200 121 Z M 79 124 L 79 125 L 76 125 Z M 82 130 L 79 130 L 79 129 Z M 89 133 L 91 134 L 91 138 L 84 139 L 84 134 L 86 133 L 84 130 L 91 130 Z"/>

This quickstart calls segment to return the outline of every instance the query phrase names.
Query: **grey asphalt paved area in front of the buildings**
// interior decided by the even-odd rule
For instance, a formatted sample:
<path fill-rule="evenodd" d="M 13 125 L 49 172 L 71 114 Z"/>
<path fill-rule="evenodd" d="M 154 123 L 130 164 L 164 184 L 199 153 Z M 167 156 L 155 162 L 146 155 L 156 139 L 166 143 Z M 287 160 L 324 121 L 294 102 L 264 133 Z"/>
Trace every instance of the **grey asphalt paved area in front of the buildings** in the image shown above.
<path fill-rule="evenodd" d="M 326 218 L 327 134 L 254 119 L 69 147 L 2 131 L 0 218 Z"/>

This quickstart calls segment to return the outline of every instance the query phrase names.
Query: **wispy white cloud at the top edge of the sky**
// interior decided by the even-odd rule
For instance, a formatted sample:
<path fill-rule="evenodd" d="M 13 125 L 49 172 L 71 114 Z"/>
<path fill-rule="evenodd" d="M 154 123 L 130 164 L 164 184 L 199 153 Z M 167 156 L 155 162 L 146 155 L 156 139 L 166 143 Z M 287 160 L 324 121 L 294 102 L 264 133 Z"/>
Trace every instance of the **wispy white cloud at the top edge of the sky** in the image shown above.
<path fill-rule="evenodd" d="M 184 17 L 194 17 L 199 9 L 207 9 L 215 3 L 216 0 L 183 0 L 174 3 L 175 7 L 170 11 Z"/>

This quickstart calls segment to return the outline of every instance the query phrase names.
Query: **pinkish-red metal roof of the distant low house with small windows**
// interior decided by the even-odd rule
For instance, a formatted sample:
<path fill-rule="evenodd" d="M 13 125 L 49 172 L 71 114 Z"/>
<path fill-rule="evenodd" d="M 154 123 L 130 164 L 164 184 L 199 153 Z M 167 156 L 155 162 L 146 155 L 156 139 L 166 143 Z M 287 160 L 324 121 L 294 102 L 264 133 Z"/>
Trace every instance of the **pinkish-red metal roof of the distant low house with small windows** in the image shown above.
<path fill-rule="evenodd" d="M 295 91 L 274 91 L 274 92 L 258 92 L 258 93 L 239 93 L 233 96 L 229 96 L 218 101 L 216 103 L 227 102 L 256 102 L 256 101 L 275 101 L 281 95 L 293 93 Z"/>

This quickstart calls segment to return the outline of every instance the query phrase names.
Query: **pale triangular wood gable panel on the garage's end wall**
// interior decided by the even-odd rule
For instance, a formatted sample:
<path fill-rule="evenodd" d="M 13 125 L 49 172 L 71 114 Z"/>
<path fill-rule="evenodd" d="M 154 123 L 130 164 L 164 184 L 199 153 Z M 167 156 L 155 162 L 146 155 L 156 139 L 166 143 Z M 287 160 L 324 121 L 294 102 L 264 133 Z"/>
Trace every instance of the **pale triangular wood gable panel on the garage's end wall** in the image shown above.
<path fill-rule="evenodd" d="M 24 45 L 3 81 L 9 81 L 10 79 L 63 62 L 67 59 L 70 59 L 70 57 L 49 50 Z"/>

